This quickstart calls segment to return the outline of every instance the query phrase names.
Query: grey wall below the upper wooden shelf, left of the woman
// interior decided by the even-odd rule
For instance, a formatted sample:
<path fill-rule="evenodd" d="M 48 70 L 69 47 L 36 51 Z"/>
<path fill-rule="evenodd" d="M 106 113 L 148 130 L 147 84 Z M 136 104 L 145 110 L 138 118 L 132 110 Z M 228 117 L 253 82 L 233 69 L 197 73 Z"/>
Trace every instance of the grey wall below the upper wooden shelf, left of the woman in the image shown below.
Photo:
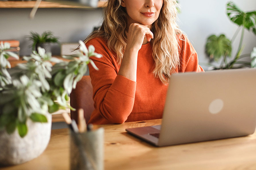
<path fill-rule="evenodd" d="M 102 9 L 38 9 L 35 18 L 29 19 L 31 9 L 0 8 L 0 39 L 18 39 L 20 55 L 30 55 L 32 44 L 27 37 L 30 31 L 43 33 L 50 30 L 61 43 L 84 40 L 102 21 Z M 53 45 L 53 55 L 60 47 Z"/>

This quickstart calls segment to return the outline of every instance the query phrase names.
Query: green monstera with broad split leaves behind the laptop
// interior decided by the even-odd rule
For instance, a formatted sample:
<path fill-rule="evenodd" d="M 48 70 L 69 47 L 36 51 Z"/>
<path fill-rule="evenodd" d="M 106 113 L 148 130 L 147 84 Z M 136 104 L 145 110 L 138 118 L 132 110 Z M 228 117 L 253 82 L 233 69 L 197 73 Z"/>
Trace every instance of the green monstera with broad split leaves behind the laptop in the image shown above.
<path fill-rule="evenodd" d="M 243 37 L 245 29 L 252 31 L 256 35 L 256 11 L 244 12 L 239 9 L 233 2 L 227 3 L 226 10 L 230 21 L 237 24 L 239 27 L 231 40 L 229 40 L 224 34 L 221 34 L 220 36 L 210 35 L 207 38 L 205 49 L 210 62 L 219 61 L 220 59 L 222 60 L 220 66 L 214 65 L 214 69 L 252 67 L 250 62 L 241 61 L 240 59 L 250 57 L 250 54 L 241 55 L 244 48 Z M 231 57 L 232 42 L 236 38 L 239 31 L 241 31 L 241 29 L 242 34 L 237 53 L 233 59 L 228 62 L 227 57 Z M 234 65 L 236 65 L 236 67 Z"/>

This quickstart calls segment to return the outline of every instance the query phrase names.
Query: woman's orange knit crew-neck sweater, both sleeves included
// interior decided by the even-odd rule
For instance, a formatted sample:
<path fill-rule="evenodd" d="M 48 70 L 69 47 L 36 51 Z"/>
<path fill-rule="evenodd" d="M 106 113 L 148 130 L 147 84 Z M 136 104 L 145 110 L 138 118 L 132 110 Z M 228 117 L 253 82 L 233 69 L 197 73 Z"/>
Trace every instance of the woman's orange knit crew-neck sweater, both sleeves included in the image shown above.
<path fill-rule="evenodd" d="M 179 36 L 178 36 L 179 37 Z M 198 65 L 198 56 L 186 36 L 179 40 L 180 67 L 176 72 L 204 71 Z M 89 65 L 93 85 L 94 108 L 88 123 L 108 124 L 128 121 L 160 119 L 163 115 L 168 85 L 155 78 L 151 43 L 142 45 L 138 52 L 137 81 L 118 75 L 120 65 L 107 43 L 94 38 L 87 44 L 103 57 L 92 57 L 99 71 Z"/>

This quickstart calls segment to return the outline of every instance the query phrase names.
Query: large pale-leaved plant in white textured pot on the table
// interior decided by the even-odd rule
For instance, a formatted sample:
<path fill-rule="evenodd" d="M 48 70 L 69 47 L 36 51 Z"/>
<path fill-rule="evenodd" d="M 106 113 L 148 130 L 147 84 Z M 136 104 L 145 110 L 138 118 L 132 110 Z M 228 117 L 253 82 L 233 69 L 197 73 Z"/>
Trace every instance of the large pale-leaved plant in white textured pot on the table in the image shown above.
<path fill-rule="evenodd" d="M 15 54 L 0 44 L 0 164 L 12 165 L 38 157 L 48 145 L 51 115 L 67 105 L 68 95 L 87 71 L 87 64 L 97 67 L 89 58 L 101 57 L 94 47 L 87 49 L 82 41 L 77 55 L 54 58 L 38 47 L 27 63 L 10 67 L 7 60 Z M 56 63 L 52 65 L 51 62 Z"/>

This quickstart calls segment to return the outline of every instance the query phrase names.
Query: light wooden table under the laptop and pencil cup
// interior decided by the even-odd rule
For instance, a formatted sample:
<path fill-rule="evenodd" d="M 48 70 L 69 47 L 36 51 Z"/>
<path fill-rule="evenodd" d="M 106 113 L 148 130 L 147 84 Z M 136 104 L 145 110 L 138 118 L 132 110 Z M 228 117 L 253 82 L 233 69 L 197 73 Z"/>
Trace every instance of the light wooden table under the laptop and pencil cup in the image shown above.
<path fill-rule="evenodd" d="M 154 147 L 125 131 L 130 127 L 157 124 L 161 124 L 161 119 L 102 125 L 105 128 L 105 169 L 256 169 L 256 133 L 247 137 Z M 50 143 L 38 158 L 0 169 L 69 169 L 68 129 L 52 130 Z"/>

